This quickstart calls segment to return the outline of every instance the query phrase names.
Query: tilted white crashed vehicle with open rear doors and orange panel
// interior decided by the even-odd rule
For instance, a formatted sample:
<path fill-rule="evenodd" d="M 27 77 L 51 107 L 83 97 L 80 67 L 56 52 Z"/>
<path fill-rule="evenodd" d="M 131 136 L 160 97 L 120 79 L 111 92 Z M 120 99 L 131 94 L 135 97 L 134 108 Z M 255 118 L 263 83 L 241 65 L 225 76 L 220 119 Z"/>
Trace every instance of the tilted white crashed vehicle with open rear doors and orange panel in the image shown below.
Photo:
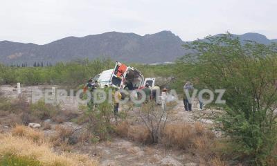
<path fill-rule="evenodd" d="M 101 88 L 112 86 L 125 89 L 127 87 L 130 91 L 141 89 L 145 84 L 149 84 L 152 88 L 155 84 L 155 78 L 144 78 L 138 69 L 120 62 L 116 62 L 114 69 L 102 71 L 102 73 L 93 77 L 93 81 L 96 80 Z"/>

